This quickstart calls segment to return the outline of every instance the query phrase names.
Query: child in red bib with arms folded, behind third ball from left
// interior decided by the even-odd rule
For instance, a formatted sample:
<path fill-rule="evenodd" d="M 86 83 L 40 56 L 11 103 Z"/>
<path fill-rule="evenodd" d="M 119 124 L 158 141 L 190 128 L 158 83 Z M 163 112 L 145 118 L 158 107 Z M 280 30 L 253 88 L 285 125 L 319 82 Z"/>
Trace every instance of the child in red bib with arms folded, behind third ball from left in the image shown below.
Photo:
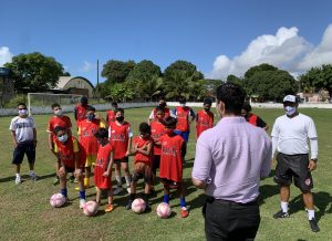
<path fill-rule="evenodd" d="M 132 175 L 131 196 L 126 209 L 132 209 L 132 202 L 136 198 L 136 186 L 139 178 L 144 178 L 145 189 L 143 199 L 148 207 L 148 195 L 153 184 L 152 159 L 153 159 L 153 139 L 151 138 L 151 128 L 147 123 L 141 123 L 139 136 L 133 142 L 133 153 L 135 154 L 135 169 Z"/>

